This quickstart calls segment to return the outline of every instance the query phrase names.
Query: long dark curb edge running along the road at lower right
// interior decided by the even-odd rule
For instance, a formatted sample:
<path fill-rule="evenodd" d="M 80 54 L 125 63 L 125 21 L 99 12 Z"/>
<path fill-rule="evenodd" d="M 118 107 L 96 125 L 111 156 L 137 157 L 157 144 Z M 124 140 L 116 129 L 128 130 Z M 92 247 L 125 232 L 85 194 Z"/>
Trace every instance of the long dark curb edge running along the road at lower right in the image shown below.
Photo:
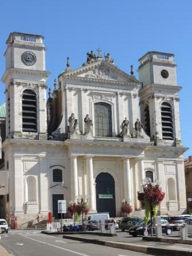
<path fill-rule="evenodd" d="M 192 256 L 192 251 L 182 251 L 182 250 L 173 250 L 173 249 L 163 249 L 151 246 L 135 245 L 133 243 L 125 244 L 121 242 L 108 242 L 101 241 L 97 239 L 90 238 L 81 238 L 81 237 L 71 237 L 70 235 L 63 235 L 63 238 L 77 240 L 87 243 L 95 243 L 97 245 L 109 246 L 118 249 L 125 249 L 130 251 L 137 251 L 138 253 L 151 254 L 155 256 Z"/>

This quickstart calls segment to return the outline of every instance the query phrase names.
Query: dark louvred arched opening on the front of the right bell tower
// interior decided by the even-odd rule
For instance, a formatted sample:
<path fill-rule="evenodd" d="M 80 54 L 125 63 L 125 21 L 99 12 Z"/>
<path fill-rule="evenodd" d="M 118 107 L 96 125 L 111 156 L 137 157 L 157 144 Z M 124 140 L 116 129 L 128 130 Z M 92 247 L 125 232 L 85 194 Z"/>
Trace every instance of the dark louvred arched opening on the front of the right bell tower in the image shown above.
<path fill-rule="evenodd" d="M 173 139 L 173 114 L 168 102 L 161 105 L 162 138 Z"/>

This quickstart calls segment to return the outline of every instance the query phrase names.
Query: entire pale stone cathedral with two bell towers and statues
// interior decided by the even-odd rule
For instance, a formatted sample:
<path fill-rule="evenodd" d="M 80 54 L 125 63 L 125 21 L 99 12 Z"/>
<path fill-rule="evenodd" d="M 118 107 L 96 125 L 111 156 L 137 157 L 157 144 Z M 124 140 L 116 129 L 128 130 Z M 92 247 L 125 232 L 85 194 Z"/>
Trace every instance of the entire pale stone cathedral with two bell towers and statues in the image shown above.
<path fill-rule="evenodd" d="M 139 81 L 132 66 L 126 74 L 99 49 L 79 69 L 67 58 L 47 100 L 43 37 L 11 33 L 6 43 L 5 218 L 15 214 L 19 225 L 49 212 L 59 218 L 58 200 L 79 196 L 92 213 L 121 216 L 126 199 L 141 215 L 137 192 L 146 177 L 161 181 L 160 213 L 186 210 L 173 54 L 143 55 Z"/>

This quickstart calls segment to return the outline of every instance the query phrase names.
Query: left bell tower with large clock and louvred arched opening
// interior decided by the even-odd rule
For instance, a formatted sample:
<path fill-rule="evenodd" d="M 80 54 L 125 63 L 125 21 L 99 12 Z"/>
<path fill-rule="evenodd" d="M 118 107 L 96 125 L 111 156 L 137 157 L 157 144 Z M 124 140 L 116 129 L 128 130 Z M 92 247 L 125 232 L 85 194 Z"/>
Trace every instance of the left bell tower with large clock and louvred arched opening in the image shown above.
<path fill-rule="evenodd" d="M 6 43 L 6 137 L 47 139 L 43 37 L 14 32 Z"/>

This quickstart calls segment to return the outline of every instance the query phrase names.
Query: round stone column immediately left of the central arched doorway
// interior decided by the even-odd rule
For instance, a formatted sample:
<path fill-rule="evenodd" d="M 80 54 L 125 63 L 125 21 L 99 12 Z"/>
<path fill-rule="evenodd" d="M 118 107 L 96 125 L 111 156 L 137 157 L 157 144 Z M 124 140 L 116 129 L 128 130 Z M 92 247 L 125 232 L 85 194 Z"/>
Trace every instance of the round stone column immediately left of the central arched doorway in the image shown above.
<path fill-rule="evenodd" d="M 91 156 L 86 157 L 86 173 L 87 173 L 87 192 L 89 193 L 89 206 L 90 210 L 95 211 L 95 193 L 93 182 L 93 158 Z"/>

